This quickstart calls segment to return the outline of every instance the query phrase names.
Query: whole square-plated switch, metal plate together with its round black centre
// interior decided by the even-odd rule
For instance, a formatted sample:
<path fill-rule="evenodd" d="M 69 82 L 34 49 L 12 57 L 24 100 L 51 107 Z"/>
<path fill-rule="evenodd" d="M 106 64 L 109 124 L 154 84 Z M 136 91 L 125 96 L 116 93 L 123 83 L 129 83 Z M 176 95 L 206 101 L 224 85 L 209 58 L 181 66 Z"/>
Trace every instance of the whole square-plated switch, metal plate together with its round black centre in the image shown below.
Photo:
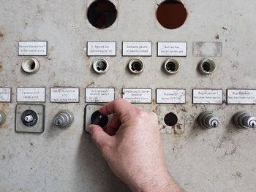
<path fill-rule="evenodd" d="M 45 130 L 45 106 L 42 104 L 17 104 L 15 131 L 42 133 Z"/>

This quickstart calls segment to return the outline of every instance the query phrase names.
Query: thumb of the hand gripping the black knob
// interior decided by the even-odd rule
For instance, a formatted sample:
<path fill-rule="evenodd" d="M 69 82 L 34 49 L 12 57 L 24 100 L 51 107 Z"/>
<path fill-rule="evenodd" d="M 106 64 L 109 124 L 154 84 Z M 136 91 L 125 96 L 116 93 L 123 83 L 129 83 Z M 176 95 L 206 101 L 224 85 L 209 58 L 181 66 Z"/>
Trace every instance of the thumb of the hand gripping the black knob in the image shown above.
<path fill-rule="evenodd" d="M 88 131 L 91 134 L 91 139 L 100 150 L 106 145 L 111 145 L 112 138 L 100 126 L 90 125 Z"/>

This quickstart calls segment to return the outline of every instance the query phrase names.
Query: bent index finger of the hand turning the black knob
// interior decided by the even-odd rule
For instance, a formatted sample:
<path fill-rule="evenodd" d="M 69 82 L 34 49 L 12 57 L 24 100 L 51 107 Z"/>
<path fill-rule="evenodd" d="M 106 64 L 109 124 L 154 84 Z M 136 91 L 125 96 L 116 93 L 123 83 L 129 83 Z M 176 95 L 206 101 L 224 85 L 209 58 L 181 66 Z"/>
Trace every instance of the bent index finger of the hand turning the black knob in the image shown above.
<path fill-rule="evenodd" d="M 105 106 L 99 109 L 99 112 L 101 112 L 103 115 L 110 115 L 116 113 L 118 116 L 123 116 L 127 112 L 129 112 L 129 110 L 132 110 L 134 108 L 135 105 L 129 103 L 124 99 L 119 98 L 111 101 L 108 104 L 105 104 Z"/>

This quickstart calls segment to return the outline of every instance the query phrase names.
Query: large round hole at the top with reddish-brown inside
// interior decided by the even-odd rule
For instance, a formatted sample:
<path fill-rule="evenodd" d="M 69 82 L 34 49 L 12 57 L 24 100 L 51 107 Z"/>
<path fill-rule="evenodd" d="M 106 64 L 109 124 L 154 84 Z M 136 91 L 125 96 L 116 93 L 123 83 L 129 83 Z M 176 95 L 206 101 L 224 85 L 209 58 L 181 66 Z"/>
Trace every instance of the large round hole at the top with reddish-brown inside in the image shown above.
<path fill-rule="evenodd" d="M 157 20 L 164 28 L 179 28 L 186 19 L 187 9 L 181 1 L 166 0 L 157 8 Z"/>

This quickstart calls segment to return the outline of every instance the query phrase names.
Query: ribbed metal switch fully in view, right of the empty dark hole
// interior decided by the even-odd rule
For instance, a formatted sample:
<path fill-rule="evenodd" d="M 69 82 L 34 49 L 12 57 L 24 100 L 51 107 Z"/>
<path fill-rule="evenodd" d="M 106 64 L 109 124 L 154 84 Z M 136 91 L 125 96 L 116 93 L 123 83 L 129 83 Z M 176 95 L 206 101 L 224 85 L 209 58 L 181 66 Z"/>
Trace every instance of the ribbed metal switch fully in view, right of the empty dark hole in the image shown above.
<path fill-rule="evenodd" d="M 203 128 L 217 128 L 219 126 L 219 118 L 208 111 L 202 112 L 198 116 L 197 121 Z"/>

